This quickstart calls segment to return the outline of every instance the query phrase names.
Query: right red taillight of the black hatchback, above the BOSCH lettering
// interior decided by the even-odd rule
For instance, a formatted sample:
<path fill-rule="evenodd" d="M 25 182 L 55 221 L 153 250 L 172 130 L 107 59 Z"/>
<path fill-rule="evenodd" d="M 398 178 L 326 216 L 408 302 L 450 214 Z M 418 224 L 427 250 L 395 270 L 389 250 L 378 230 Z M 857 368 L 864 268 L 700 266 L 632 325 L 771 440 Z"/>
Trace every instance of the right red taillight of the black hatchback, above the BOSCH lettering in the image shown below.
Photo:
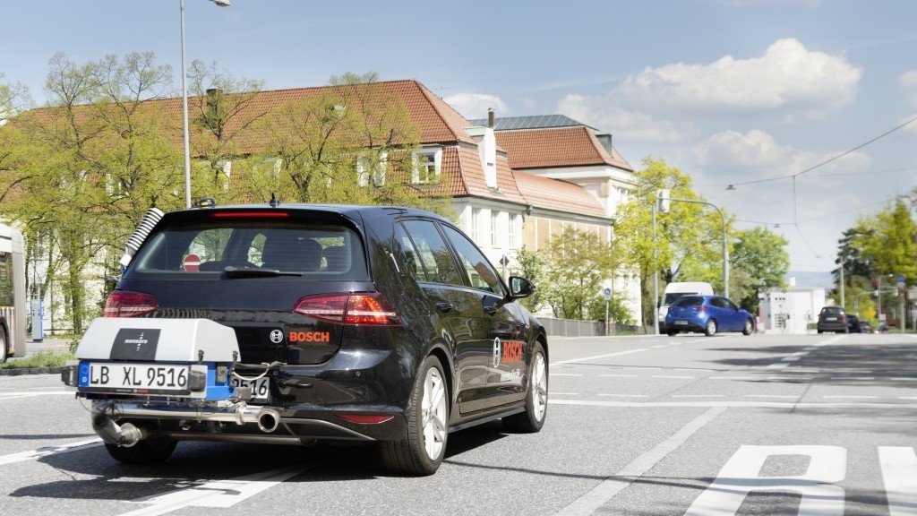
<path fill-rule="evenodd" d="M 378 292 L 303 297 L 293 311 L 338 324 L 401 326 L 398 314 Z"/>

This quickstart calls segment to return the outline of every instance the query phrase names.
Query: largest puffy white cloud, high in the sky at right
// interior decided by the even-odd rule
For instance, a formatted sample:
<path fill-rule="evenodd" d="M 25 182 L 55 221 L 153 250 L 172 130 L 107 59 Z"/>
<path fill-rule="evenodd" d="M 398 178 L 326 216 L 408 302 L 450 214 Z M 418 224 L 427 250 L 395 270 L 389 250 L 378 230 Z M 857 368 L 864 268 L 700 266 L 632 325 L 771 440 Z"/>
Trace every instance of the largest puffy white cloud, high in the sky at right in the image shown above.
<path fill-rule="evenodd" d="M 760 57 L 646 68 L 607 94 L 567 95 L 558 109 L 622 136 L 672 141 L 703 118 L 823 118 L 853 102 L 862 75 L 843 55 L 779 39 Z"/>

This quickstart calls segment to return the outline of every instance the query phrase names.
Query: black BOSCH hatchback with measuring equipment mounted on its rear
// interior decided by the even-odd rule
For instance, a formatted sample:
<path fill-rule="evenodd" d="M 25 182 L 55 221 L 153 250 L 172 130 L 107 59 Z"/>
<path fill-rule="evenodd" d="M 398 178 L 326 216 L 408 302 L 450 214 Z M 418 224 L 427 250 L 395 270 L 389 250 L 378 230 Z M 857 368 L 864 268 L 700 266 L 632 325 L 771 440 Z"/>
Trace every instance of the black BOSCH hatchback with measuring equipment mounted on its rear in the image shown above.
<path fill-rule="evenodd" d="M 516 302 L 534 289 L 522 277 L 505 284 L 462 231 L 421 210 L 176 211 L 107 299 L 105 318 L 130 324 L 97 320 L 125 326 L 105 344 L 110 355 L 81 356 L 98 345 L 86 342 L 91 327 L 80 364 L 62 376 L 94 400 L 94 429 L 121 462 L 163 461 L 182 440 L 358 441 L 378 443 L 393 471 L 428 475 L 448 432 L 544 424 L 546 332 Z M 220 356 L 219 342 L 201 344 L 191 365 L 160 363 L 174 343 L 147 361 L 132 354 L 171 320 L 228 327 L 223 340 L 234 333 L 238 353 L 213 365 L 204 348 Z M 117 385 L 106 383 L 112 372 Z M 206 394 L 193 398 L 195 388 Z"/>

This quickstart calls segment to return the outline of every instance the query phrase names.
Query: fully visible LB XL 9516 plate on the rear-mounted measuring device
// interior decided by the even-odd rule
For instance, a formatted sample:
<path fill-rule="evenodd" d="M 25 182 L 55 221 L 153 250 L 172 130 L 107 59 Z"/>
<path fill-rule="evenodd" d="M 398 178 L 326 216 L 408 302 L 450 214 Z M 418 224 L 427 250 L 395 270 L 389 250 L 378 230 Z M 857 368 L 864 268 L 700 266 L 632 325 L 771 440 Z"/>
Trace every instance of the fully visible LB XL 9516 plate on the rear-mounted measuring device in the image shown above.
<path fill-rule="evenodd" d="M 83 362 L 78 387 L 91 392 L 188 393 L 188 365 Z"/>

